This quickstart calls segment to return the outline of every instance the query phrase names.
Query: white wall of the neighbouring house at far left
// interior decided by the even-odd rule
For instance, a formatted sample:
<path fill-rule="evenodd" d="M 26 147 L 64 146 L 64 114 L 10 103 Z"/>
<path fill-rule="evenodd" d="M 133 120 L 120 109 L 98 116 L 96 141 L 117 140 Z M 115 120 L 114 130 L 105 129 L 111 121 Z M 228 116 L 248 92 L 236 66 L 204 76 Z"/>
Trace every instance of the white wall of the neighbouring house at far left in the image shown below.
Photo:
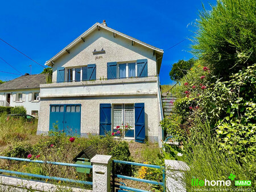
<path fill-rule="evenodd" d="M 10 107 L 15 106 L 23 106 L 27 110 L 27 114 L 31 115 L 32 111 L 39 111 L 40 109 L 40 101 L 34 100 L 32 101 L 32 95 L 34 93 L 39 93 L 40 89 L 24 89 L 24 90 L 6 90 L 0 91 L 0 101 L 7 101 L 7 94 L 10 94 Z M 17 94 L 22 94 L 23 98 L 21 101 L 16 101 L 14 95 L 16 97 Z M 37 115 L 34 115 L 37 116 Z"/>

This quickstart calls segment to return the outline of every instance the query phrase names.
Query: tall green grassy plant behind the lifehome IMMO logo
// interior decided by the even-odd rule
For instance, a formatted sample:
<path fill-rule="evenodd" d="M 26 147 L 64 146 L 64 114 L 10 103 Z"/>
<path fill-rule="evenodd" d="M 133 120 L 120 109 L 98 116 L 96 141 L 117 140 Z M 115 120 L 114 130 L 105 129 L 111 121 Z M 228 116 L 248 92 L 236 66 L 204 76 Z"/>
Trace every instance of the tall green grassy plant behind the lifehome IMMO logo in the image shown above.
<path fill-rule="evenodd" d="M 255 182 L 255 162 L 241 162 L 236 156 L 223 154 L 218 149 L 218 143 L 210 130 L 208 123 L 200 123 L 191 131 L 191 139 L 184 143 L 184 161 L 187 162 L 190 170 L 184 174 L 184 183 L 187 191 L 198 190 L 205 191 L 219 190 L 236 190 L 235 180 L 250 180 L 252 185 L 251 191 L 256 190 Z M 253 164 L 253 166 L 249 166 Z M 249 168 L 250 167 L 250 168 Z M 192 178 L 199 180 L 228 181 L 230 174 L 236 176 L 231 181 L 230 186 L 192 186 Z"/>

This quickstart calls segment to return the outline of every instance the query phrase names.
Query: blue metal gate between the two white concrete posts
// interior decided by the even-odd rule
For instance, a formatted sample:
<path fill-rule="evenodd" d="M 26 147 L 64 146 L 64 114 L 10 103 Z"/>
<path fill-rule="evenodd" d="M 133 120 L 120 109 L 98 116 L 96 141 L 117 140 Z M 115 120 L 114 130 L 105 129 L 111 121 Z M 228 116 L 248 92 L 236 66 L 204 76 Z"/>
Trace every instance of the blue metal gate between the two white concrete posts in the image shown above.
<path fill-rule="evenodd" d="M 120 175 L 120 174 L 115 174 L 115 170 L 114 170 L 115 163 L 127 164 L 127 165 L 136 165 L 136 166 L 146 166 L 148 168 L 162 169 L 163 170 L 163 182 L 152 181 L 152 180 L 144 180 L 144 179 L 141 179 L 141 178 L 136 178 L 136 177 L 130 177 L 130 176 L 123 176 L 123 175 Z M 118 192 L 119 191 L 124 191 L 124 190 L 146 192 L 145 190 L 135 189 L 133 187 L 127 187 L 125 185 L 115 185 L 115 177 L 123 178 L 123 179 L 126 179 L 126 180 L 133 180 L 133 181 L 150 183 L 150 184 L 153 184 L 153 185 L 162 185 L 163 189 L 165 191 L 165 183 L 164 183 L 164 180 L 165 180 L 165 170 L 164 170 L 164 166 L 150 165 L 150 164 L 141 164 L 141 163 L 138 163 L 138 162 L 119 161 L 119 160 L 113 160 L 112 166 L 113 166 L 113 168 L 112 168 L 112 172 L 113 172 L 113 192 L 115 192 L 115 187 L 118 187 L 119 189 L 121 189 L 121 190 L 118 190 Z"/>

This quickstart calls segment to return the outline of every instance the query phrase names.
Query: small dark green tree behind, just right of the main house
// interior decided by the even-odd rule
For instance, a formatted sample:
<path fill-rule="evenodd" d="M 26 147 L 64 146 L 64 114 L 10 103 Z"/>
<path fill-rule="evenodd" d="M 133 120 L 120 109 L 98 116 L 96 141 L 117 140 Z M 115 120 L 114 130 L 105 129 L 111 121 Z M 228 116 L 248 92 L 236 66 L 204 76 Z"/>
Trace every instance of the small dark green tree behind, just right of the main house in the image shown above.
<path fill-rule="evenodd" d="M 170 78 L 173 81 L 179 81 L 183 76 L 187 74 L 187 71 L 192 68 L 196 60 L 194 58 L 189 59 L 188 61 L 179 60 L 172 65 L 172 70 L 169 73 Z"/>

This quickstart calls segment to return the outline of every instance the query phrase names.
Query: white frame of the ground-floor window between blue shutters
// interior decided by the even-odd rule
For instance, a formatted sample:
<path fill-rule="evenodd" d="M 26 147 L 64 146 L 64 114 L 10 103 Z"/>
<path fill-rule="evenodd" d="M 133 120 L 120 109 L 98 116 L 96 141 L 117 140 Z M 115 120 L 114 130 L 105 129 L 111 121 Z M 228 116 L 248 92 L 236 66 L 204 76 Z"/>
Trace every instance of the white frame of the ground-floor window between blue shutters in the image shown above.
<path fill-rule="evenodd" d="M 135 109 L 134 109 L 134 103 L 113 103 L 112 104 L 112 132 L 114 132 L 114 129 L 116 127 L 114 127 L 114 105 L 122 105 L 122 123 L 123 126 L 125 126 L 125 110 L 131 110 L 131 109 L 125 109 L 125 105 L 133 105 L 133 125 L 130 125 L 132 128 L 130 128 L 130 130 L 134 130 L 134 136 L 133 137 L 123 137 L 124 139 L 135 139 Z M 120 110 L 120 109 L 117 109 Z M 120 127 L 122 126 L 122 124 L 120 125 Z M 125 127 L 124 127 L 125 128 Z"/>

